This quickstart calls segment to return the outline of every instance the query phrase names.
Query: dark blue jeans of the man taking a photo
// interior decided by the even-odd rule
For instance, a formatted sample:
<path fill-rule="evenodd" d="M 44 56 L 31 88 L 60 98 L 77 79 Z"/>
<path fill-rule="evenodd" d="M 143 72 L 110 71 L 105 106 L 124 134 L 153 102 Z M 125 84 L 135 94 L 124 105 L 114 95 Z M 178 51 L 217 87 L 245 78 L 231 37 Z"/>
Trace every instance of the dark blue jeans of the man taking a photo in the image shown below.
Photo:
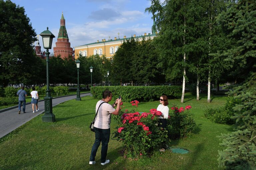
<path fill-rule="evenodd" d="M 101 142 L 101 163 L 104 163 L 106 161 L 107 151 L 108 151 L 108 142 L 110 137 L 110 128 L 109 129 L 100 129 L 95 128 L 95 142 L 92 146 L 90 161 L 95 160 L 96 152 L 98 150 L 98 147 L 100 146 Z"/>

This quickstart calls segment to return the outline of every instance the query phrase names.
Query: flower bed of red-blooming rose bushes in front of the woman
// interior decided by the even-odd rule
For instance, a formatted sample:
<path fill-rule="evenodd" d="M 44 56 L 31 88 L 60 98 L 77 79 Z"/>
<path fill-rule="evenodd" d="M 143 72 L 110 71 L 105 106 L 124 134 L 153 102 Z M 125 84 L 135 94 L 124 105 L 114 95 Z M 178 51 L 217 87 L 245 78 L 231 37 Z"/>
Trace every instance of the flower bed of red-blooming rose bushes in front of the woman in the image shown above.
<path fill-rule="evenodd" d="M 160 111 L 150 109 L 148 113 L 144 112 L 140 114 L 139 112 L 135 111 L 138 107 L 138 103 L 139 102 L 136 100 L 132 101 L 131 104 L 134 106 L 134 109 L 131 112 L 129 112 L 127 109 L 125 111 L 122 109 L 119 115 L 115 116 L 118 127 L 114 137 L 116 137 L 126 146 L 125 153 L 127 157 L 141 157 L 142 155 L 148 155 L 153 151 L 158 150 L 161 143 L 168 140 L 168 129 L 180 130 L 179 132 L 182 133 L 180 137 L 188 136 L 188 130 L 184 129 L 189 129 L 189 133 L 191 133 L 192 128 L 188 128 L 188 124 L 182 122 L 186 120 L 183 119 L 183 117 L 188 114 L 188 110 L 191 108 L 191 106 L 187 106 L 185 108 L 186 112 L 184 112 L 183 108 L 178 110 L 175 108 L 174 112 L 176 115 L 171 113 L 169 116 L 170 121 L 168 122 L 171 123 L 171 127 L 168 125 L 169 128 L 167 127 L 167 129 L 165 129 L 157 126 L 157 117 L 162 114 Z M 177 113 L 182 115 L 182 117 L 180 118 Z M 172 116 L 174 118 L 171 118 Z M 173 124 L 173 120 L 176 120 L 175 124 Z M 178 121 L 181 122 L 178 124 Z"/>

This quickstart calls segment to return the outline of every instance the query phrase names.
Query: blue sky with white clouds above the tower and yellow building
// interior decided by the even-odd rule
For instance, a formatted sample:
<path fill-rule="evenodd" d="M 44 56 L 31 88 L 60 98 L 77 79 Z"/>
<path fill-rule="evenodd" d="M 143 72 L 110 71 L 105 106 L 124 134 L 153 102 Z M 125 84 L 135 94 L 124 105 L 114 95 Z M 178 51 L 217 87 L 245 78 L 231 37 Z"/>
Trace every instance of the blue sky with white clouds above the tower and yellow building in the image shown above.
<path fill-rule="evenodd" d="M 152 14 L 145 13 L 148 0 L 11 0 L 25 8 L 36 34 L 46 27 L 57 41 L 63 11 L 71 47 L 87 43 L 151 33 Z M 42 38 L 39 36 L 40 45 Z M 43 47 L 41 48 L 43 50 Z"/>

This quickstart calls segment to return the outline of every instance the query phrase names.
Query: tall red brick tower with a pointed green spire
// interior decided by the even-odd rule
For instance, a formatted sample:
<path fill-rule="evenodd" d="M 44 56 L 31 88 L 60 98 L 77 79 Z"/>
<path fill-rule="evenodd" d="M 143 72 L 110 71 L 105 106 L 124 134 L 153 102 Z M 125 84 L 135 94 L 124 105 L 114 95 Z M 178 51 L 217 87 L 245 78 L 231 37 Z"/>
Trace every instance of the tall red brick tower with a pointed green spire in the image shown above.
<path fill-rule="evenodd" d="M 53 47 L 54 56 L 61 55 L 61 58 L 64 59 L 69 55 L 72 56 L 73 48 L 70 47 L 70 42 L 68 39 L 68 33 L 65 26 L 65 19 L 63 16 L 63 12 L 60 19 L 60 31 L 58 35 L 58 39 L 56 42 L 56 47 Z"/>

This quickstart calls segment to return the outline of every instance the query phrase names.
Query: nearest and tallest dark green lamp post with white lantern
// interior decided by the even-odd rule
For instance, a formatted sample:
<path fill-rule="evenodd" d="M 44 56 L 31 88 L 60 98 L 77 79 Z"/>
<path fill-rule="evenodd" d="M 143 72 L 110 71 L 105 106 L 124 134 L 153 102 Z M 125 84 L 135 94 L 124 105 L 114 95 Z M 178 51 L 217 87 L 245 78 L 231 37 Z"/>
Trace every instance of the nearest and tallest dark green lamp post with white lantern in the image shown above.
<path fill-rule="evenodd" d="M 43 39 L 43 46 L 46 49 L 46 96 L 44 97 L 44 116 L 42 117 L 43 122 L 55 122 L 55 115 L 52 113 L 52 97 L 51 90 L 49 88 L 49 49 L 52 48 L 52 39 L 55 36 L 48 30 L 43 31 L 40 36 Z"/>

